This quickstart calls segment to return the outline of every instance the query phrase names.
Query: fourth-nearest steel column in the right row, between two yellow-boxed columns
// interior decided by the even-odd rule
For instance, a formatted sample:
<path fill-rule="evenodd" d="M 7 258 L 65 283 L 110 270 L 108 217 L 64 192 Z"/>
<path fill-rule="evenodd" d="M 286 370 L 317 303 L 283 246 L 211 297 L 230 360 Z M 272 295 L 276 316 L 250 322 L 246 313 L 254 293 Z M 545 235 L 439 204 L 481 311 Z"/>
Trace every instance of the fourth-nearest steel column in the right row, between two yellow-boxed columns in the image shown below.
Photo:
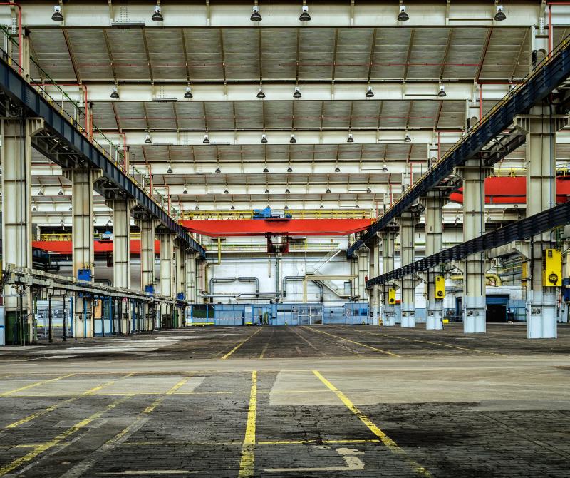
<path fill-rule="evenodd" d="M 413 213 L 403 213 L 398 218 L 400 225 L 400 262 L 402 265 L 414 261 L 414 230 L 418 218 Z M 402 327 L 415 327 L 415 275 L 402 279 Z"/>

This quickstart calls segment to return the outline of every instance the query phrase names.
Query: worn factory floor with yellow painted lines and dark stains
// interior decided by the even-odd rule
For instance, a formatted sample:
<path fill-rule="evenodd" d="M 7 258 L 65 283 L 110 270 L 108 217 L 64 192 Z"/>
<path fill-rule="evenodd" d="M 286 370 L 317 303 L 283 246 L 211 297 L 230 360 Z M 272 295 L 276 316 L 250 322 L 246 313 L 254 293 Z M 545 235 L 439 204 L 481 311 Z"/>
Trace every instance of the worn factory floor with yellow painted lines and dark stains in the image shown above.
<path fill-rule="evenodd" d="M 570 327 L 211 327 L 0 350 L 0 476 L 568 477 Z"/>

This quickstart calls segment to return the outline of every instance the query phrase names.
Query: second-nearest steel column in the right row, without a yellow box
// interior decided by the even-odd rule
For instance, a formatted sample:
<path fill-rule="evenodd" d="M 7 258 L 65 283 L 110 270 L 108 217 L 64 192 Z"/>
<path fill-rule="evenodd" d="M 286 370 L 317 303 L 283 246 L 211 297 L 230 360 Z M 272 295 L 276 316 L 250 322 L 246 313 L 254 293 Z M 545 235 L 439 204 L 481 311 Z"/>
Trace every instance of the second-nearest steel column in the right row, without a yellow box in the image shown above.
<path fill-rule="evenodd" d="M 484 180 L 492 171 L 478 159 L 471 159 L 457 170 L 463 178 L 463 240 L 474 239 L 485 232 Z M 485 305 L 484 253 L 472 254 L 463 268 L 462 297 L 463 332 L 484 333 L 487 324 Z"/>

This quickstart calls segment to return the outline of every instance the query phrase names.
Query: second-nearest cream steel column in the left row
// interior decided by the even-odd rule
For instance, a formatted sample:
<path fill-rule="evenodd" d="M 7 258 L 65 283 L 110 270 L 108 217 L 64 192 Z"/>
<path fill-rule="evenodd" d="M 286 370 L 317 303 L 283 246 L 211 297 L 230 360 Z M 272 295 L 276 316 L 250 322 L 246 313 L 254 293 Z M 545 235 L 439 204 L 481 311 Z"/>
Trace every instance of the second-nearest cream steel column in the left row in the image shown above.
<path fill-rule="evenodd" d="M 80 270 L 90 271 L 91 282 L 95 280 L 95 254 L 93 250 L 93 183 L 101 171 L 94 169 L 67 169 L 64 176 L 71 180 L 73 194 L 73 277 Z M 73 307 L 73 336 L 93 337 L 93 300 L 77 294 Z"/>

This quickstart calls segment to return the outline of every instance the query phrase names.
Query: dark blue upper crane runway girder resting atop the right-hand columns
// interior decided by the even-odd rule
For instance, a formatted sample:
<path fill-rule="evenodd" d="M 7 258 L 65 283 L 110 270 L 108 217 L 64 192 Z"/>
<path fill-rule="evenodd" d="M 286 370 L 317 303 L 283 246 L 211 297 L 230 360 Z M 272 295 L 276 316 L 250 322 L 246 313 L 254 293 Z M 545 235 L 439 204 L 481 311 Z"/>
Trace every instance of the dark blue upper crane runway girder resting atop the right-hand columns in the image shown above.
<path fill-rule="evenodd" d="M 461 178 L 454 171 L 472 158 L 480 158 L 484 166 L 492 166 L 509 153 L 522 146 L 524 132 L 513 124 L 518 115 L 541 103 L 570 76 L 570 44 L 564 41 L 561 47 L 546 58 L 526 81 L 519 83 L 497 103 L 491 111 L 470 129 L 450 151 L 437 161 L 425 175 L 412 185 L 380 218 L 371 225 L 362 237 L 346 251 L 348 258 L 375 234 L 393 224 L 403 213 L 420 208 L 420 198 L 430 190 L 439 189 L 447 197 L 457 190 Z M 564 114 L 570 109 L 567 90 L 556 94 L 554 113 Z"/>

